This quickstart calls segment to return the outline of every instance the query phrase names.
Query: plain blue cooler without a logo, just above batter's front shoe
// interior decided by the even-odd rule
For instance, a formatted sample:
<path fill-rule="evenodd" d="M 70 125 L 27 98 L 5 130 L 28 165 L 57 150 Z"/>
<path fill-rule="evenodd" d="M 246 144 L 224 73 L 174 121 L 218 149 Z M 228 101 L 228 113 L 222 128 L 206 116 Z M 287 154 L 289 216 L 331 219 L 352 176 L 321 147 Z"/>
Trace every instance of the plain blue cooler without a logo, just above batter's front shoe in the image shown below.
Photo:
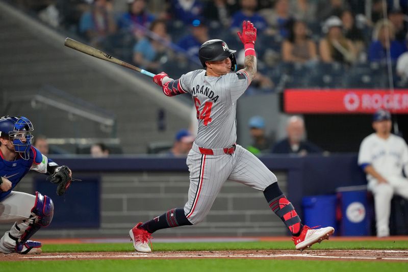
<path fill-rule="evenodd" d="M 303 197 L 302 223 L 309 227 L 321 226 L 336 228 L 336 203 L 336 195 Z"/>

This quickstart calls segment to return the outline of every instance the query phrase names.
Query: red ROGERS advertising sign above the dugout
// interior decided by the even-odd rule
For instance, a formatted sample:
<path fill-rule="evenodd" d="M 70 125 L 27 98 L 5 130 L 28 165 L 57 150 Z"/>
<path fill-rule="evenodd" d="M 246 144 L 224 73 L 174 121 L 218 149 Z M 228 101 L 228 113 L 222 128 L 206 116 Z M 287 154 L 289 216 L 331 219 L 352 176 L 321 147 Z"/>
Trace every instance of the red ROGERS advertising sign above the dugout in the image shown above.
<path fill-rule="evenodd" d="M 408 113 L 408 89 L 286 89 L 283 101 L 286 113 Z"/>

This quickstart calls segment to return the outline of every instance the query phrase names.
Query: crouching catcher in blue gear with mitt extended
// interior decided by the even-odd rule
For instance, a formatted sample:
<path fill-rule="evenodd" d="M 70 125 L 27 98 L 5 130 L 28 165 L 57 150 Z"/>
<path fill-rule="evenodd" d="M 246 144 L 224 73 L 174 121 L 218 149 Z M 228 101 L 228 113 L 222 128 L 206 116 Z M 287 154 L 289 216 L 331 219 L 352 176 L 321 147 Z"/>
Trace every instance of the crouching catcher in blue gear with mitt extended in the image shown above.
<path fill-rule="evenodd" d="M 0 223 L 14 222 L 0 239 L 0 253 L 39 254 L 41 242 L 29 240 L 41 227 L 51 223 L 52 199 L 36 192 L 30 195 L 12 191 L 30 170 L 48 175 L 62 196 L 72 181 L 67 166 L 58 166 L 34 146 L 33 124 L 19 116 L 0 118 Z"/>

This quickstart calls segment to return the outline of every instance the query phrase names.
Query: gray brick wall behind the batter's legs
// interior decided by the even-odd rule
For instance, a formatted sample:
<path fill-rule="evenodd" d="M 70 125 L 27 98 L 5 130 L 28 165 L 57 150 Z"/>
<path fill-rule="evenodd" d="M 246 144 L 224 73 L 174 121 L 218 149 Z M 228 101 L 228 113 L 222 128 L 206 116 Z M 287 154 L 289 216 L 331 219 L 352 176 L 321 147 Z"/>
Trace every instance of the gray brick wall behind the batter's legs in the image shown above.
<path fill-rule="evenodd" d="M 100 175 L 99 229 L 42 229 L 36 237 L 126 237 L 139 221 L 156 217 L 187 201 L 187 172 L 86 173 Z M 286 193 L 287 177 L 275 173 Z M 32 194 L 34 174 L 22 180 L 15 191 Z M 80 186 L 75 183 L 74 186 Z M 69 203 L 66 203 L 69 205 Z M 75 220 L 75 211 L 71 218 Z M 0 225 L 7 231 L 10 224 Z M 196 226 L 167 229 L 155 236 L 251 236 L 285 235 L 281 220 L 269 209 L 262 192 L 227 181 L 205 221 Z"/>

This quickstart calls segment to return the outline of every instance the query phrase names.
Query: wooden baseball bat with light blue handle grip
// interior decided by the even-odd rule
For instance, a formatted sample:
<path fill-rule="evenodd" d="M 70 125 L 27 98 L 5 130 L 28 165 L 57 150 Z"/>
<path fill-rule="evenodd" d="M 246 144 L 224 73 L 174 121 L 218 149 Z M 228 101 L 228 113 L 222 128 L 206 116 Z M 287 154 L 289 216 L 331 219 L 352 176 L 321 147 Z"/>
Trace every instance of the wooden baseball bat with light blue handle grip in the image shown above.
<path fill-rule="evenodd" d="M 72 49 L 75 49 L 75 50 L 78 50 L 80 52 L 86 53 L 89 56 L 92 56 L 92 57 L 95 57 L 95 58 L 98 58 L 98 59 L 101 59 L 101 60 L 104 60 L 104 61 L 119 64 L 120 66 L 123 66 L 123 67 L 129 68 L 129 69 L 138 71 L 138 72 L 140 72 L 142 74 L 145 74 L 145 75 L 148 75 L 150 77 L 155 76 L 154 73 L 150 73 L 150 72 L 148 72 L 148 71 L 146 71 L 144 69 L 141 69 L 139 67 L 136 67 L 136 66 L 134 66 L 132 64 L 129 64 L 129 63 L 126 63 L 124 61 L 115 59 L 111 55 L 109 55 L 109 54 L 107 54 L 105 52 L 102 52 L 102 51 L 100 51 L 100 50 L 98 50 L 96 48 L 93 48 L 93 47 L 91 47 L 89 45 L 86 45 L 86 44 L 84 44 L 82 42 L 75 41 L 75 40 L 72 40 L 70 38 L 66 38 L 64 44 L 65 44 L 65 46 L 68 46 L 68 47 L 70 47 Z"/>

